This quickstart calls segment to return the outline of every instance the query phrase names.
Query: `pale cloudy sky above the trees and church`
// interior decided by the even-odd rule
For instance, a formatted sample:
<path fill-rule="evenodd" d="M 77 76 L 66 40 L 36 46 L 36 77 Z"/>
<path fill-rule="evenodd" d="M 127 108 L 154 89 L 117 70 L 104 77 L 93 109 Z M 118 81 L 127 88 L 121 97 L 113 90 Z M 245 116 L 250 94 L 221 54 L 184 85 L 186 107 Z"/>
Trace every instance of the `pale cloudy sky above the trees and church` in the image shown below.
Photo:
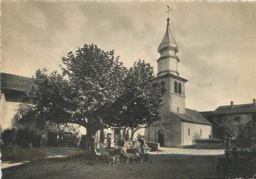
<path fill-rule="evenodd" d="M 59 70 L 61 57 L 84 44 L 114 49 L 129 68 L 144 59 L 157 70 L 167 5 L 179 46 L 186 107 L 252 103 L 256 98 L 256 1 L 2 1 L 1 72 L 33 76 Z"/>

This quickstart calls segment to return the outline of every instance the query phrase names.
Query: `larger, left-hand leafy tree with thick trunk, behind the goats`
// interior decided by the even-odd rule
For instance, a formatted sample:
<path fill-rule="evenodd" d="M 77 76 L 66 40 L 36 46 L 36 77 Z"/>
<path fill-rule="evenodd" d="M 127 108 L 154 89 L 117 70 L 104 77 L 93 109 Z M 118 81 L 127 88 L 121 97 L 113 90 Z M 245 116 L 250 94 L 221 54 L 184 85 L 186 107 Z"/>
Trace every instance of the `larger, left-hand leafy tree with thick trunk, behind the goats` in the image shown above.
<path fill-rule="evenodd" d="M 107 127 L 103 108 L 121 96 L 126 68 L 114 51 L 84 45 L 62 57 L 62 73 L 37 70 L 36 87 L 30 103 L 37 118 L 55 123 L 72 123 L 87 130 L 87 149 L 93 148 L 93 135 Z"/>

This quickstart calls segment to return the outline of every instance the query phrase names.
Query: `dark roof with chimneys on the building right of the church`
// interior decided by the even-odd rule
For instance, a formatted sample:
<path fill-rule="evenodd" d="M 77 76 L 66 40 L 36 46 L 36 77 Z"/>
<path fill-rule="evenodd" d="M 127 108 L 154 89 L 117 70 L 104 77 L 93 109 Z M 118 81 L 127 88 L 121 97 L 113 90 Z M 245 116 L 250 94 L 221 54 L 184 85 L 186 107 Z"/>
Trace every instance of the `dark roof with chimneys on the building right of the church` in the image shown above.
<path fill-rule="evenodd" d="M 242 105 L 222 105 L 217 107 L 213 114 L 229 114 L 229 113 L 256 113 L 256 107 L 253 103 L 242 104 Z"/>

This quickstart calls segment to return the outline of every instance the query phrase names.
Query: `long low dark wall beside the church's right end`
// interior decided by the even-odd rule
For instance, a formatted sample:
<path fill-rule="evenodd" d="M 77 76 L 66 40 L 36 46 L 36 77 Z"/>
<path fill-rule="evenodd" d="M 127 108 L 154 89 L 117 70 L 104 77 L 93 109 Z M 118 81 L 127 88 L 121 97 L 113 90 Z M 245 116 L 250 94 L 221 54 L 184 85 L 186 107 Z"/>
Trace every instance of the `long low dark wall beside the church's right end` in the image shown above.
<path fill-rule="evenodd" d="M 195 139 L 196 149 L 225 149 L 224 141 L 219 139 Z"/>

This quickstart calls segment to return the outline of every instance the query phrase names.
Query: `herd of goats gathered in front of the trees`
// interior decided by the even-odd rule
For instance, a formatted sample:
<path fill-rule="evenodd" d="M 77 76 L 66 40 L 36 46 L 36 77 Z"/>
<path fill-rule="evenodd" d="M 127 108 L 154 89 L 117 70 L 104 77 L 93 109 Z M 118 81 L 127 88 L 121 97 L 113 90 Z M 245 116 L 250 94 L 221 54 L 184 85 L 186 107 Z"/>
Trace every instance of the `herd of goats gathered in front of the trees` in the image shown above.
<path fill-rule="evenodd" d="M 116 146 L 114 149 L 95 149 L 95 152 L 98 155 L 105 154 L 108 156 L 109 165 L 119 165 L 120 157 L 124 157 L 127 160 L 126 163 L 129 163 L 130 160 L 135 161 L 136 159 L 140 159 L 141 163 L 143 163 L 143 159 L 146 159 L 152 163 L 150 155 L 142 151 L 140 142 L 137 140 L 131 141 L 131 143 L 124 145 L 123 147 Z"/>

